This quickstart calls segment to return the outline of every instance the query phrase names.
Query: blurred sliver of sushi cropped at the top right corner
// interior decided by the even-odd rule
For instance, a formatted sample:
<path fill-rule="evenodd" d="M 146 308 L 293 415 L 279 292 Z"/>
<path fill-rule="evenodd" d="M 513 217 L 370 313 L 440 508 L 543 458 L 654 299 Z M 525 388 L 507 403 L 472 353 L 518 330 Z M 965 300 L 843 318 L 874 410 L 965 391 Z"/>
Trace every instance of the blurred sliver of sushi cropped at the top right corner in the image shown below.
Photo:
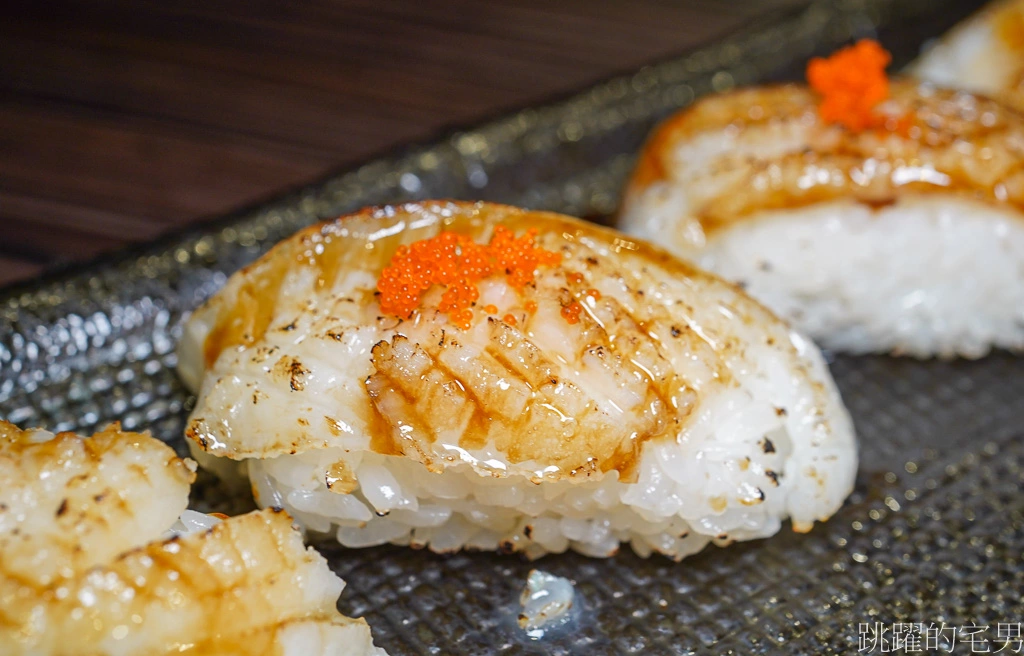
<path fill-rule="evenodd" d="M 989 3 L 943 35 L 907 73 L 1024 111 L 1024 0 Z"/>

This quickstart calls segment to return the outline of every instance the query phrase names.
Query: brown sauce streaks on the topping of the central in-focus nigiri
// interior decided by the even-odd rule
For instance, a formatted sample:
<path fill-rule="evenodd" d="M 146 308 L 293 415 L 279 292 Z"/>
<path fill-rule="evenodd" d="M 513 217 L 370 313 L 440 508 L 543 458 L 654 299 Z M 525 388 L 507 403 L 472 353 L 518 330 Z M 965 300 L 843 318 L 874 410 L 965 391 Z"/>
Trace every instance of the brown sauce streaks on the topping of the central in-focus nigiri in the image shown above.
<path fill-rule="evenodd" d="M 563 257 L 571 260 L 578 272 L 573 272 L 570 278 L 564 278 L 563 285 L 568 285 L 564 291 L 566 294 L 574 294 L 581 299 L 585 299 L 587 304 L 596 304 L 605 308 L 606 312 L 615 316 L 615 323 L 609 324 L 607 331 L 603 325 L 598 325 L 588 312 L 581 314 L 581 322 L 569 331 L 586 331 L 580 337 L 581 341 L 575 346 L 586 351 L 591 348 L 602 347 L 607 352 L 607 357 L 622 357 L 622 360 L 611 361 L 612 371 L 618 370 L 620 375 L 628 373 L 634 377 L 636 371 L 631 367 L 630 356 L 634 349 L 645 354 L 645 357 L 657 358 L 658 354 L 664 354 L 663 345 L 659 339 L 670 340 L 672 336 L 680 339 L 682 331 L 672 333 L 671 326 L 680 323 L 683 319 L 677 315 L 678 312 L 687 312 L 684 306 L 673 305 L 673 309 L 663 307 L 656 301 L 648 301 L 643 297 L 642 289 L 633 289 L 635 295 L 634 305 L 647 308 L 650 312 L 643 310 L 634 315 L 634 311 L 627 311 L 626 308 L 617 306 L 614 298 L 602 296 L 594 291 L 593 282 L 595 268 L 598 266 L 615 266 L 612 258 L 601 258 L 596 252 L 579 243 L 580 236 L 586 236 L 591 242 L 607 248 L 612 253 L 622 253 L 625 258 L 621 263 L 624 270 L 633 267 L 638 272 L 646 270 L 657 271 L 658 275 L 666 277 L 685 277 L 693 281 L 694 285 L 709 285 L 712 276 L 694 269 L 667 253 L 650 248 L 645 244 L 633 242 L 622 235 L 593 225 L 588 225 L 574 219 L 551 215 L 539 212 L 526 212 L 515 208 L 490 205 L 472 204 L 436 204 L 428 207 L 426 212 L 438 215 L 443 208 L 443 219 L 438 219 L 433 223 L 425 225 L 414 231 L 408 229 L 394 230 L 391 234 L 378 238 L 373 243 L 373 253 L 366 256 L 367 245 L 370 244 L 370 234 L 382 233 L 389 226 L 394 226 L 401 221 L 410 221 L 411 215 L 415 218 L 424 216 L 425 211 L 417 205 L 394 208 L 387 213 L 375 214 L 374 211 L 364 212 L 350 218 L 338 219 L 321 226 L 307 229 L 304 233 L 293 237 L 292 240 L 279 246 L 264 260 L 257 262 L 253 267 L 246 270 L 242 275 L 247 276 L 241 281 L 233 306 L 225 305 L 217 317 L 217 324 L 210 334 L 207 341 L 208 364 L 216 359 L 217 354 L 229 346 L 238 344 L 253 344 L 262 339 L 271 320 L 274 318 L 275 301 L 280 296 L 281 288 L 291 267 L 299 262 L 300 266 L 313 266 L 317 269 L 315 278 L 315 290 L 310 290 L 309 294 L 321 293 L 325 288 L 334 283 L 334 280 L 341 274 L 346 266 L 352 266 L 357 261 L 356 266 L 370 272 L 377 272 L 384 267 L 388 261 L 390 253 L 393 253 L 399 244 L 409 243 L 423 235 L 436 233 L 440 229 L 456 230 L 474 235 L 474 238 L 484 235 L 490 225 L 501 222 L 515 232 L 521 232 L 527 227 L 542 227 L 543 232 L 539 246 L 549 250 L 559 250 Z M 481 213 L 483 216 L 481 216 Z M 421 222 L 425 223 L 425 222 Z M 341 229 L 349 229 L 350 233 L 341 234 Z M 327 239 L 325 235 L 330 235 Z M 317 250 L 312 247 L 321 245 Z M 315 255 L 310 255 L 316 253 Z M 611 269 L 609 269 L 610 271 Z M 632 270 L 632 269 L 630 269 Z M 554 273 L 552 273 L 554 275 Z M 721 285 L 715 279 L 715 283 Z M 571 289 L 570 289 L 571 288 Z M 550 299 L 549 299 L 550 300 Z M 741 303 L 741 301 L 737 301 Z M 617 309 L 612 307 L 615 304 Z M 609 310 L 608 308 L 612 308 Z M 513 308 L 515 309 L 515 308 Z M 738 314 L 745 316 L 746 313 L 757 311 L 760 306 L 742 306 L 738 309 Z M 519 310 L 515 310 L 517 315 Z M 509 322 L 502 322 L 497 317 L 492 317 L 490 321 L 499 325 L 504 325 L 507 331 L 512 331 L 517 335 L 525 336 L 520 341 L 529 341 L 528 324 L 536 319 L 537 308 L 521 313 L 522 323 L 513 327 Z M 757 316 L 760 316 L 758 314 Z M 654 337 L 655 332 L 664 333 L 664 338 Z M 401 331 L 399 330 L 400 334 Z M 678 333 L 678 335 L 677 335 Z M 703 357 L 718 358 L 717 351 L 721 349 L 733 348 L 727 341 L 723 341 L 724 346 L 716 346 L 708 342 L 705 338 L 686 331 L 687 339 L 694 342 L 694 347 L 700 347 Z M 404 339 L 404 338 L 403 338 Z M 519 339 L 519 338 L 517 338 Z M 699 342 L 699 344 L 696 344 Z M 374 349 L 377 357 L 378 349 L 391 349 L 393 341 L 385 340 Z M 555 416 L 545 417 L 526 412 L 524 417 L 532 414 L 531 423 L 527 426 L 518 422 L 522 418 L 503 419 L 497 412 L 503 403 L 501 399 L 482 399 L 474 391 L 480 381 L 466 380 L 465 377 L 458 376 L 449 367 L 440 364 L 438 360 L 438 350 L 434 348 L 446 348 L 442 344 L 424 345 L 431 361 L 428 370 L 422 376 L 422 380 L 414 378 L 401 381 L 398 377 L 399 367 L 382 369 L 382 366 L 375 361 L 375 375 L 367 381 L 367 388 L 370 393 L 370 400 L 366 403 L 365 411 L 360 409 L 360 419 L 364 420 L 367 431 L 371 437 L 370 449 L 386 455 L 401 455 L 413 457 L 427 465 L 431 471 L 439 471 L 444 463 L 439 462 L 439 457 L 431 448 L 431 444 L 436 439 L 437 427 L 454 426 L 453 422 L 457 418 L 449 411 L 446 414 L 438 413 L 439 407 L 452 408 L 459 403 L 466 407 L 459 414 L 464 417 L 466 424 L 459 435 L 459 446 L 464 449 L 479 449 L 490 439 L 498 440 L 498 448 L 502 451 L 509 463 L 516 465 L 522 462 L 536 462 L 542 467 L 554 465 L 559 470 L 556 478 L 586 476 L 600 471 L 616 471 L 621 480 L 633 480 L 636 477 L 637 466 L 647 441 L 662 438 L 674 438 L 680 425 L 686 421 L 693 407 L 699 401 L 699 391 L 689 387 L 685 381 L 671 370 L 668 359 L 665 360 L 664 368 L 668 373 L 667 377 L 658 380 L 647 378 L 645 382 L 639 384 L 643 400 L 637 405 L 638 409 L 657 406 L 662 409 L 650 413 L 650 417 L 636 419 L 631 416 L 629 426 L 611 426 L 607 424 L 607 419 L 598 413 L 594 399 L 589 398 L 587 393 L 580 389 L 574 392 L 566 392 L 568 396 L 553 397 L 557 399 L 559 406 L 553 411 L 565 411 L 567 417 L 577 420 L 575 433 L 571 436 L 559 438 L 555 433 L 550 432 L 552 427 L 557 427 Z M 421 345 L 416 345 L 421 348 Z M 538 398 L 542 388 L 551 389 L 559 385 L 571 384 L 568 381 L 561 381 L 557 376 L 544 375 L 544 362 L 541 360 L 530 360 L 535 357 L 529 355 L 534 349 L 540 357 L 544 357 L 530 345 L 512 346 L 512 351 L 505 349 L 505 345 L 498 340 L 484 350 L 484 355 L 493 360 L 496 367 L 505 370 L 510 380 L 522 384 L 525 381 L 528 389 L 534 395 L 531 399 Z M 523 350 L 525 349 L 525 350 Z M 385 353 L 381 351 L 381 353 Z M 432 351 L 432 352 L 431 352 Z M 696 351 L 695 351 L 696 352 Z M 514 357 L 512 357 L 514 355 Z M 387 355 L 385 353 L 385 359 Z M 581 356 L 582 357 L 582 356 Z M 526 358 L 513 362 L 516 358 Z M 610 360 L 609 360 L 610 361 Z M 617 363 L 616 363 L 617 362 Z M 621 367 L 615 369 L 614 367 Z M 728 383 L 728 370 L 723 362 L 716 365 L 721 369 L 721 380 Z M 631 373 L 627 371 L 630 369 Z M 554 369 L 553 369 L 554 370 Z M 383 371 L 383 374 L 382 374 Z M 531 371 L 531 373 L 530 373 Z M 376 376 L 382 376 L 374 380 Z M 416 386 L 423 385 L 426 377 L 434 384 L 423 388 L 420 393 Z M 609 374 L 612 376 L 613 374 Z M 416 375 L 419 376 L 419 375 Z M 529 377 L 540 377 L 530 379 Z M 398 377 L 398 378 L 396 378 Z M 641 378 L 644 378 L 643 376 Z M 450 388 L 440 388 L 437 381 L 451 385 Z M 402 386 L 409 389 L 403 390 Z M 294 387 L 294 386 L 293 386 Z M 430 389 L 432 388 L 432 389 Z M 412 391 L 411 391 L 412 390 Z M 481 392 L 485 394 L 485 391 Z M 545 392 L 548 393 L 548 392 Z M 381 402 L 382 395 L 390 394 L 392 405 Z M 560 393 L 561 394 L 561 393 Z M 645 395 L 645 396 L 644 396 Z M 431 400 L 434 399 L 434 400 Z M 527 407 L 532 407 L 535 400 L 526 401 Z M 453 405 L 454 404 L 454 405 Z M 678 406 L 678 409 L 671 409 Z M 547 406 L 538 406 L 538 411 L 548 411 Z M 397 408 L 397 409 L 395 409 Z M 549 408 L 550 409 L 550 408 Z M 461 421 L 461 420 L 460 420 Z M 525 421 L 525 420 L 523 420 Z M 518 423 L 517 423 L 518 422 Z M 327 432 L 332 433 L 339 430 L 335 427 L 326 427 Z M 503 424 L 507 426 L 502 428 Z M 522 424 L 522 425 L 519 425 Z M 460 425 L 462 427 L 462 425 Z M 496 430 L 497 429 L 497 430 Z M 539 431 L 531 433 L 532 431 Z"/>

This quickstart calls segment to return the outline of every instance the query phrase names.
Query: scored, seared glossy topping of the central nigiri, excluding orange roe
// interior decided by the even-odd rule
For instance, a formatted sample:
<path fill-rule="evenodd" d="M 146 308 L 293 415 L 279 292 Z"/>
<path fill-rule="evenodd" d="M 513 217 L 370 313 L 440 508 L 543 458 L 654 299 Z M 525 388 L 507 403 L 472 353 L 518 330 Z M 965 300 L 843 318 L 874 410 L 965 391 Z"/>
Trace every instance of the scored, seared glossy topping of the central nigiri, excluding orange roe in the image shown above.
<path fill-rule="evenodd" d="M 480 280 L 465 324 L 438 309 L 436 286 L 408 318 L 380 310 L 374 288 L 399 246 L 442 231 L 486 244 L 498 226 L 536 230 L 557 264 L 520 289 Z M 209 371 L 187 435 L 237 458 L 360 444 L 432 471 L 631 480 L 645 442 L 677 439 L 700 398 L 732 384 L 751 340 L 806 375 L 784 324 L 644 243 L 487 204 L 368 210 L 279 245 L 197 312 L 185 378 L 200 380 L 198 353 L 194 370 Z M 261 403 L 290 414 L 250 419 Z"/>

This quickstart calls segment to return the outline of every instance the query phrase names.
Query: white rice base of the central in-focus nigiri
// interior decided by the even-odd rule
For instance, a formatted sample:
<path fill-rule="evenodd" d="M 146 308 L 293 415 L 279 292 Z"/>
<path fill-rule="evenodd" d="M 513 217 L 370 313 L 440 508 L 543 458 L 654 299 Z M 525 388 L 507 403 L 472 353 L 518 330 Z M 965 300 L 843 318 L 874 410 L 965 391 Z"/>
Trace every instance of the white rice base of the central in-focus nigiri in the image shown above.
<path fill-rule="evenodd" d="M 712 542 L 767 537 L 787 517 L 809 530 L 852 490 L 856 447 L 820 355 L 793 339 L 827 388 L 830 434 L 808 406 L 808 383 L 763 347 L 761 367 L 739 373 L 744 380 L 702 404 L 677 439 L 646 444 L 635 483 L 612 472 L 538 484 L 481 476 L 464 464 L 435 474 L 408 457 L 340 448 L 250 460 L 248 473 L 260 506 L 283 507 L 307 530 L 352 548 L 607 557 L 629 542 L 640 556 L 678 560 Z M 355 475 L 349 494 L 326 485 L 325 472 L 338 462 Z"/>

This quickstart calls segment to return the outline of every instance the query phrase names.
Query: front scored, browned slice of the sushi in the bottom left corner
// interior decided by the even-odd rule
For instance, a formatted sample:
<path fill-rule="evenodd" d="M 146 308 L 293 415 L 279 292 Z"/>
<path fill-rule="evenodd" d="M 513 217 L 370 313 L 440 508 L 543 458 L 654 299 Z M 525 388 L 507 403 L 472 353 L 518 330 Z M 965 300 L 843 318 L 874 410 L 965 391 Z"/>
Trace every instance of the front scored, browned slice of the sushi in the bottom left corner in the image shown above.
<path fill-rule="evenodd" d="M 286 513 L 250 513 L 5 597 L 0 650 L 282 654 L 288 633 L 314 632 L 345 647 L 330 653 L 371 653 L 366 622 L 335 607 L 342 586 Z"/>

